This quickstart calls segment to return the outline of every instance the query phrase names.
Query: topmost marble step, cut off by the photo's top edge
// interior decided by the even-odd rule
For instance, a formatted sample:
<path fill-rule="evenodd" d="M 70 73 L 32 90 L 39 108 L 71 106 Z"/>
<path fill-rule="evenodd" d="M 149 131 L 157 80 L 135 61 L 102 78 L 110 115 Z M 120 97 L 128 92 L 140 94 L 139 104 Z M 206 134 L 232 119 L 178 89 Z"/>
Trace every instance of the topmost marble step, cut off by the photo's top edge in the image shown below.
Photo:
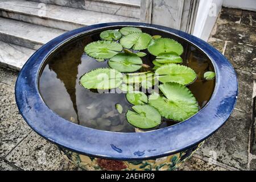
<path fill-rule="evenodd" d="M 138 18 L 141 14 L 140 0 L 31 0 L 51 5 L 73 7 L 76 9 L 98 11 L 114 15 Z"/>

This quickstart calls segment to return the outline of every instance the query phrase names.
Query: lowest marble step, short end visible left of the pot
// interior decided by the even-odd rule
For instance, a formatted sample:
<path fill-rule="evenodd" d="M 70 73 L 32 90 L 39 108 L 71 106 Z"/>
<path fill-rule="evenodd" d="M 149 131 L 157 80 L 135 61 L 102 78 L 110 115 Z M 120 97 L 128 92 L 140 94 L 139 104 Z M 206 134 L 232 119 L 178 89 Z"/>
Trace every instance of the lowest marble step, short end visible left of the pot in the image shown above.
<path fill-rule="evenodd" d="M 20 70 L 35 50 L 0 41 L 0 66 Z"/>

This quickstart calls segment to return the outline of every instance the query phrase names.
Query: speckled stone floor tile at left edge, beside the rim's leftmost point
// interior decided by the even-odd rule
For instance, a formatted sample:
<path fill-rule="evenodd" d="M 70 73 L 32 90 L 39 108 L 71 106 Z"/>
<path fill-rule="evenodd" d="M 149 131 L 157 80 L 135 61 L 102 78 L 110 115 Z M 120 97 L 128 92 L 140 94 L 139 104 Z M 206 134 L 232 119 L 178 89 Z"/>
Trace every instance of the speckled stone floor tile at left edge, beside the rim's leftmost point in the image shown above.
<path fill-rule="evenodd" d="M 15 104 L 0 106 L 0 157 L 5 157 L 30 132 Z"/>

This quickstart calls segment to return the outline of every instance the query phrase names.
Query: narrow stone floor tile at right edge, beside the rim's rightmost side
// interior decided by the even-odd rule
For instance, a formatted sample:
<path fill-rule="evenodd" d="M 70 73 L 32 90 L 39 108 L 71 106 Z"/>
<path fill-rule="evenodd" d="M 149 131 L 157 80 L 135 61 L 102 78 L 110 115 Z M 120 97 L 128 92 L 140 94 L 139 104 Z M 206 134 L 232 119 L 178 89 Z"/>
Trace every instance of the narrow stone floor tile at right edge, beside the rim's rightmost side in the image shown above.
<path fill-rule="evenodd" d="M 236 108 L 251 112 L 253 97 L 253 73 L 236 70 L 238 78 L 238 98 Z"/>

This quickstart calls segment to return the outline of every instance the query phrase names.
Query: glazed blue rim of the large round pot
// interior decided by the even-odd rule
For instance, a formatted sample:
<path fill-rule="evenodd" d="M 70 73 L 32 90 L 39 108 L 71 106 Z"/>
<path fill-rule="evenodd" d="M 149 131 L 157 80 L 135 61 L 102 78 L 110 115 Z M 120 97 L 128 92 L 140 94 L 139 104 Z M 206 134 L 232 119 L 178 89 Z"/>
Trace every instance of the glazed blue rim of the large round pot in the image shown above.
<path fill-rule="evenodd" d="M 39 76 L 44 62 L 57 48 L 80 35 L 110 27 L 153 28 L 177 36 L 200 49 L 212 61 L 216 85 L 208 104 L 186 121 L 145 133 L 118 133 L 80 126 L 54 113 L 39 93 Z M 195 36 L 172 28 L 147 23 L 101 23 L 77 28 L 51 40 L 28 59 L 15 85 L 18 109 L 28 125 L 43 138 L 79 154 L 105 159 L 155 159 L 187 150 L 212 135 L 229 118 L 238 94 L 234 68 L 216 48 Z"/>

